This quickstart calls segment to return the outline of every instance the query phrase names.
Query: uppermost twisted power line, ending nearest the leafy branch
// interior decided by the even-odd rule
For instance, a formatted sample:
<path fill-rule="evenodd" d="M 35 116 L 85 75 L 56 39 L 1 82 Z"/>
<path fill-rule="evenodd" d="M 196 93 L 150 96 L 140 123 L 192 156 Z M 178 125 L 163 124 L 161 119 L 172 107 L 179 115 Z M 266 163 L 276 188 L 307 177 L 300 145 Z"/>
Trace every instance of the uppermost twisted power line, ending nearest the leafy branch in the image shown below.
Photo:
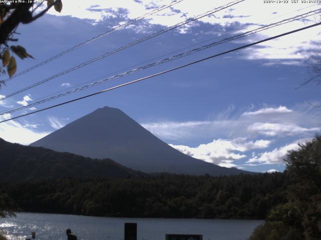
<path fill-rule="evenodd" d="M 69 48 L 69 49 L 67 49 L 67 50 L 65 50 L 65 51 L 63 51 L 63 52 L 55 55 L 55 56 L 52 56 L 52 57 L 50 57 L 50 58 L 48 58 L 48 59 L 46 59 L 46 60 L 44 60 L 44 61 L 42 61 L 42 62 L 39 62 L 39 63 L 36 64 L 36 65 L 33 65 L 32 67 L 29 67 L 29 68 L 27 68 L 27 69 L 25 69 L 25 70 L 23 70 L 23 71 L 15 74 L 15 75 L 13 75 L 12 77 L 7 78 L 7 79 L 5 80 L 5 82 L 7 82 L 7 81 L 9 81 L 9 80 L 11 80 L 11 79 L 13 79 L 13 78 L 15 78 L 15 77 L 17 77 L 17 76 L 21 76 L 21 75 L 25 74 L 25 73 L 28 72 L 28 71 L 31 71 L 31 70 L 33 70 L 33 69 L 35 69 L 35 68 L 37 68 L 37 67 L 39 67 L 39 66 L 41 66 L 41 65 L 44 65 L 44 64 L 46 64 L 46 63 L 48 63 L 48 62 L 50 62 L 50 61 L 52 61 L 52 60 L 54 60 L 54 59 L 56 59 L 56 58 L 58 58 L 58 57 L 61 57 L 61 56 L 65 55 L 65 54 L 67 54 L 67 53 L 69 53 L 69 52 L 71 52 L 71 51 L 73 51 L 73 50 L 76 50 L 76 49 L 78 49 L 79 47 L 82 47 L 82 46 L 84 46 L 84 45 L 86 45 L 86 44 L 88 44 L 88 43 L 90 43 L 90 42 L 93 42 L 93 41 L 95 41 L 95 40 L 97 40 L 97 39 L 99 39 L 99 38 L 101 38 L 101 37 L 103 37 L 103 36 L 106 36 L 106 35 L 108 35 L 108 34 L 110 34 L 110 33 L 113 33 L 114 31 L 117 31 L 117 30 L 120 30 L 120 29 L 122 29 L 122 28 L 125 28 L 125 27 L 127 27 L 127 26 L 129 26 L 129 25 L 131 25 L 131 24 L 133 24 L 133 23 L 135 23 L 135 22 L 137 22 L 137 21 L 139 21 L 139 20 L 142 20 L 142 19 L 146 18 L 147 16 L 150 16 L 150 15 L 152 15 L 152 14 L 154 14 L 154 13 L 157 13 L 157 12 L 159 12 L 159 11 L 162 11 L 162 10 L 166 9 L 166 8 L 169 8 L 169 7 L 171 7 L 171 6 L 179 3 L 179 2 L 181 2 L 181 1 L 184 1 L 184 0 L 174 0 L 174 1 L 172 1 L 172 2 L 171 2 L 170 4 L 168 4 L 168 5 L 163 5 L 163 6 L 161 6 L 161 7 L 155 8 L 155 9 L 153 9 L 152 11 L 149 11 L 149 12 L 147 12 L 147 13 L 141 15 L 141 16 L 136 17 L 136 18 L 133 19 L 133 20 L 127 21 L 127 22 L 125 22 L 125 23 L 123 23 L 123 24 L 120 24 L 120 25 L 118 25 L 118 26 L 116 26 L 116 27 L 113 27 L 111 30 L 108 30 L 108 31 L 106 31 L 106 32 L 104 32 L 104 33 L 101 33 L 101 34 L 97 35 L 97 36 L 94 36 L 93 38 L 91 38 L 91 39 L 89 39 L 89 40 L 86 40 L 86 41 L 84 41 L 84 42 L 81 42 L 81 43 L 79 43 L 78 45 L 75 45 L 75 46 L 73 46 L 73 47 L 71 47 L 71 48 Z"/>

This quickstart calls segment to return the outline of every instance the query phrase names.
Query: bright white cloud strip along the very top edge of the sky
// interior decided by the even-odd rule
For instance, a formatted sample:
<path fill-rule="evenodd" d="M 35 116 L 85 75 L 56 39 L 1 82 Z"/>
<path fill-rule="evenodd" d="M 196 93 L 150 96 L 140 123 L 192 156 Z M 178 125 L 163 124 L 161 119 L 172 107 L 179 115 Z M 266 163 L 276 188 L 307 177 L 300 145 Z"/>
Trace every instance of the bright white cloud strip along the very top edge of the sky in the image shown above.
<path fill-rule="evenodd" d="M 56 12 L 54 9 L 50 9 L 49 13 L 54 15 L 71 15 L 82 19 L 92 19 L 97 22 L 103 20 L 104 17 L 117 16 L 117 10 L 119 9 L 126 9 L 127 11 L 124 13 L 124 17 L 133 19 L 151 11 L 153 8 L 169 4 L 171 1 L 172 0 L 141 0 L 138 2 L 133 0 L 95 0 L 95 5 L 90 1 L 66 1 L 64 2 L 61 13 Z M 148 19 L 152 24 L 173 25 L 178 22 L 179 19 L 198 15 L 229 2 L 231 1 L 222 0 L 220 2 L 213 2 L 209 0 L 199 0 L 197 3 L 195 1 L 183 1 L 173 5 L 172 9 L 165 9 L 152 16 L 148 16 Z M 219 23 L 221 25 L 230 25 L 235 21 L 242 24 L 257 23 L 262 20 L 276 18 L 280 15 L 286 18 L 289 16 L 289 12 L 300 12 L 297 11 L 297 9 L 302 7 L 306 7 L 306 4 L 300 2 L 297 4 L 281 4 L 277 7 L 277 13 L 275 14 L 274 4 L 266 4 L 263 3 L 263 1 L 257 0 L 246 0 L 217 12 L 215 17 L 206 17 L 201 21 L 211 24 Z M 258 13 L 255 9 L 261 10 Z M 302 12 L 304 12 L 304 10 L 307 11 L 308 9 L 302 9 Z"/>

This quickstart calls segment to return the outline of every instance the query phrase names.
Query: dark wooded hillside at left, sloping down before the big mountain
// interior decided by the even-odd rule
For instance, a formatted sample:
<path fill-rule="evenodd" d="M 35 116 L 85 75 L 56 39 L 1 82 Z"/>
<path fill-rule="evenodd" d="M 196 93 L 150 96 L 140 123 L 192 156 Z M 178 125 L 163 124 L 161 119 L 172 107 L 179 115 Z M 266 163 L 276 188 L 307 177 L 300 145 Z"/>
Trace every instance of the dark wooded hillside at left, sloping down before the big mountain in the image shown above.
<path fill-rule="evenodd" d="M 43 147 L 24 146 L 0 138 L 0 180 L 61 177 L 128 177 L 140 173 L 111 159 L 91 159 Z"/>

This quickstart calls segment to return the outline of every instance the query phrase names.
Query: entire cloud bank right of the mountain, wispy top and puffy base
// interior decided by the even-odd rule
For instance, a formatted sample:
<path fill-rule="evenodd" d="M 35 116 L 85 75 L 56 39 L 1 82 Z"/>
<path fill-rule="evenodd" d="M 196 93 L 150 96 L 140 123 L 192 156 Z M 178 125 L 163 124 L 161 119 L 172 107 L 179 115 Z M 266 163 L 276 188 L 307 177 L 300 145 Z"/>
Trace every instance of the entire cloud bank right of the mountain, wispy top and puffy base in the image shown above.
<path fill-rule="evenodd" d="M 320 122 L 321 109 L 304 103 L 292 108 L 252 105 L 243 111 L 230 106 L 213 120 L 152 122 L 142 126 L 185 154 L 221 166 L 248 168 L 281 164 L 288 150 L 297 149 L 296 139 L 309 139 L 321 130 Z M 211 137 L 214 140 L 206 141 Z M 205 143 L 181 143 L 193 142 L 191 139 Z"/>

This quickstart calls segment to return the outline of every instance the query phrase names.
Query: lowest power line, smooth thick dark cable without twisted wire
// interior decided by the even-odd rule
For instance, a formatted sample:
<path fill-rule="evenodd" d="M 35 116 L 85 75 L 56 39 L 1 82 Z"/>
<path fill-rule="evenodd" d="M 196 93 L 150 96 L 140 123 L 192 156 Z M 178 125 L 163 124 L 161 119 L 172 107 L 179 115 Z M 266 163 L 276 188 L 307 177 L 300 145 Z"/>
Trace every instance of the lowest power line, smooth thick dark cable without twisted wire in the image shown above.
<path fill-rule="evenodd" d="M 29 113 L 22 114 L 22 115 L 19 115 L 19 116 L 15 116 L 15 117 L 12 117 L 12 118 L 9 118 L 9 119 L 5 119 L 5 120 L 0 121 L 0 123 L 6 122 L 6 121 L 9 121 L 9 120 L 13 120 L 13 119 L 17 119 L 17 118 L 20 118 L 20 117 L 23 117 L 23 116 L 27 116 L 27 115 L 30 115 L 30 114 L 34 114 L 34 113 L 37 113 L 37 112 L 40 112 L 40 111 L 48 110 L 50 108 L 61 106 L 61 105 L 64 105 L 64 104 L 67 104 L 67 103 L 70 103 L 70 102 L 78 101 L 78 100 L 81 100 L 81 99 L 84 99 L 84 98 L 87 98 L 87 97 L 90 97 L 90 96 L 94 96 L 94 95 L 97 95 L 97 94 L 100 94 L 100 93 L 103 93 L 103 92 L 106 92 L 106 91 L 110 91 L 110 90 L 113 90 L 113 89 L 116 89 L 116 88 L 119 88 L 119 87 L 122 87 L 122 86 L 126 86 L 126 85 L 129 85 L 129 84 L 138 82 L 138 81 L 142 81 L 142 80 L 154 77 L 154 76 L 158 76 L 158 75 L 162 75 L 162 74 L 167 73 L 167 72 L 178 70 L 180 68 L 183 68 L 183 67 L 186 67 L 186 66 L 190 66 L 190 65 L 193 65 L 195 63 L 202 62 L 202 61 L 205 61 L 205 60 L 208 60 L 208 59 L 211 59 L 211 58 L 223 55 L 223 54 L 227 54 L 227 53 L 230 53 L 230 52 L 233 52 L 233 51 L 236 51 L 236 50 L 240 50 L 240 49 L 243 49 L 243 48 L 246 48 L 246 47 L 249 47 L 249 46 L 253 46 L 253 45 L 256 45 L 256 44 L 259 44 L 259 43 L 262 43 L 262 42 L 265 42 L 265 41 L 269 41 L 269 40 L 272 40 L 272 39 L 275 39 L 275 38 L 278 38 L 278 37 L 281 37 L 281 36 L 292 34 L 294 32 L 302 31 L 302 30 L 305 30 L 305 29 L 308 29 L 308 28 L 311 28 L 311 27 L 314 27 L 314 26 L 317 26 L 317 25 L 320 25 L 320 24 L 321 24 L 321 22 L 318 22 L 318 23 L 314 23 L 312 25 L 308 25 L 308 26 L 305 26 L 305 27 L 297 28 L 297 29 L 292 30 L 292 31 L 288 31 L 288 32 L 285 32 L 285 33 L 282 33 L 282 34 L 278 34 L 278 35 L 275 35 L 275 36 L 272 36 L 272 37 L 268 37 L 268 38 L 265 38 L 263 40 L 255 41 L 255 42 L 243 45 L 243 46 L 239 46 L 239 47 L 233 48 L 231 50 L 227 50 L 227 51 L 215 54 L 215 55 L 211 55 L 211 56 L 208 56 L 208 57 L 196 60 L 196 61 L 192 61 L 190 63 L 184 64 L 184 65 L 180 65 L 180 66 L 177 66 L 177 67 L 165 70 L 165 71 L 157 72 L 157 73 L 149 75 L 149 76 L 141 77 L 141 78 L 138 78 L 136 80 L 132 80 L 132 81 L 129 81 L 129 82 L 117 85 L 117 86 L 113 86 L 113 87 L 110 87 L 110 88 L 107 88 L 107 89 L 104 89 L 104 90 L 101 90 L 101 91 L 97 91 L 97 92 L 85 95 L 85 96 L 74 98 L 72 100 L 68 100 L 68 101 L 65 101 L 65 102 L 62 102 L 62 103 L 59 103 L 59 104 L 56 104 L 56 105 L 48 106 L 48 107 L 45 107 L 45 108 L 42 108 L 42 109 L 39 109 L 39 110 L 36 110 L 36 111 L 33 111 L 33 112 L 29 112 Z"/>

